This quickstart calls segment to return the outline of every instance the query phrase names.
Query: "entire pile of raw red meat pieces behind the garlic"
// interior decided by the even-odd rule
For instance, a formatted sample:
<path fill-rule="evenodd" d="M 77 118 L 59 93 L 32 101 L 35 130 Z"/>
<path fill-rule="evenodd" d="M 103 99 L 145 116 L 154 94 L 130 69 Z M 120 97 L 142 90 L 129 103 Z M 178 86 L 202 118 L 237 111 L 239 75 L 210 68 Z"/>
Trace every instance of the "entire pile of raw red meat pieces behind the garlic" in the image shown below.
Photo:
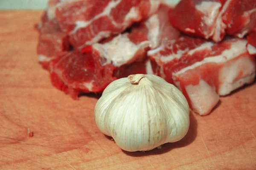
<path fill-rule="evenodd" d="M 49 0 L 37 28 L 38 61 L 74 99 L 155 74 L 206 115 L 255 78 L 255 0 Z"/>

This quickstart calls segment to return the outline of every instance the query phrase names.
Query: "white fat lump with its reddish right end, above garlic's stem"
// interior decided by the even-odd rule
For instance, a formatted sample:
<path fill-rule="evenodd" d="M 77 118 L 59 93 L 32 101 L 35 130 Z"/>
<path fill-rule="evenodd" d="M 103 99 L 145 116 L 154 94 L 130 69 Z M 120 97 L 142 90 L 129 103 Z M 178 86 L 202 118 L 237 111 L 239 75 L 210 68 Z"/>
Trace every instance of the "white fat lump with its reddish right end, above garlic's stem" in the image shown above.
<path fill-rule="evenodd" d="M 140 31 L 119 34 L 104 43 L 92 45 L 102 58 L 102 65 L 113 64 L 116 67 L 143 60 L 149 50 L 150 41 Z"/>

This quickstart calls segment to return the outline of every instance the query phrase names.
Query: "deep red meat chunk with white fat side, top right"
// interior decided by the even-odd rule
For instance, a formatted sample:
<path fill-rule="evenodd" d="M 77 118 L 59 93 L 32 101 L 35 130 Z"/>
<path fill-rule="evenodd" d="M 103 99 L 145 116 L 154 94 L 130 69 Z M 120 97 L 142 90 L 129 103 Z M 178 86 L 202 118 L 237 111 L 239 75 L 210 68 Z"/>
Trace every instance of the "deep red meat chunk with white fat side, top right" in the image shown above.
<path fill-rule="evenodd" d="M 209 39 L 222 5 L 220 0 L 181 0 L 169 12 L 170 22 L 188 35 Z"/>

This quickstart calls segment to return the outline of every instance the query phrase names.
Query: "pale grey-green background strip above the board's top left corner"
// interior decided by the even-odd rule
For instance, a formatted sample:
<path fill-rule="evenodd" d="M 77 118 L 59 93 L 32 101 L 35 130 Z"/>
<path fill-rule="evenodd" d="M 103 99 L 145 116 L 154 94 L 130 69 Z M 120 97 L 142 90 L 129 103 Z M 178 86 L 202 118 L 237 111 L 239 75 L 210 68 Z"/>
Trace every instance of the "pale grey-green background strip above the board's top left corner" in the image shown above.
<path fill-rule="evenodd" d="M 45 9 L 47 0 L 0 0 L 0 10 Z"/>

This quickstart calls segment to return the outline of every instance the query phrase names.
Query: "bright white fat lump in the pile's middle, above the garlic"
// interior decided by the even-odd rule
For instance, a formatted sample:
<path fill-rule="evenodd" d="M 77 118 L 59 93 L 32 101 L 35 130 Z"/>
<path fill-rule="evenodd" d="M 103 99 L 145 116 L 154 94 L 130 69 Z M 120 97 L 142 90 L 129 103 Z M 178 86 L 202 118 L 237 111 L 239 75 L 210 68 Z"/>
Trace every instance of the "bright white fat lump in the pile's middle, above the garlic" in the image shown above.
<path fill-rule="evenodd" d="M 134 62 L 138 57 L 144 58 L 142 55 L 145 48 L 150 44 L 149 41 L 143 41 L 139 45 L 134 44 L 128 37 L 128 34 L 119 34 L 110 42 L 104 44 L 93 44 L 93 50 L 98 51 L 100 57 L 107 59 L 103 64 L 112 63 L 116 67 Z"/>

